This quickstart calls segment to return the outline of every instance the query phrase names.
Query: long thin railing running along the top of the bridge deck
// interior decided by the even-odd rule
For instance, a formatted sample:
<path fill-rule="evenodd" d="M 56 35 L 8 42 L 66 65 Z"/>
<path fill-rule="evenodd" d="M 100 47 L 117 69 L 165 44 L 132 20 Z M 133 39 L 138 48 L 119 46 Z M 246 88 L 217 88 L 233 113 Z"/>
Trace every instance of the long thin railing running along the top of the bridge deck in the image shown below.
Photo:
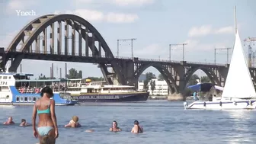
<path fill-rule="evenodd" d="M 14 51 L 14 52 L 18 52 L 18 51 Z M 5 53 L 8 53 L 5 52 Z M 23 52 L 18 52 L 18 53 L 23 53 Z M 27 53 L 34 53 L 34 54 L 52 54 L 52 55 L 59 55 L 58 52 L 53 52 L 53 53 L 50 53 L 50 51 L 43 51 L 43 50 L 40 50 L 39 52 L 36 51 L 36 50 L 30 50 L 30 51 L 27 51 Z M 66 53 L 60 53 L 60 55 L 66 55 Z M 67 53 L 67 56 L 79 56 L 79 53 L 74 53 L 72 55 L 72 53 Z M 85 53 L 82 53 L 82 56 L 86 56 Z M 92 55 L 92 53 L 88 53 L 88 57 L 94 57 Z M 102 55 L 102 56 L 98 56 L 99 58 L 110 58 L 112 59 L 113 57 L 110 57 L 110 56 L 105 56 L 105 55 Z M 114 58 L 116 59 L 130 59 L 130 60 L 134 60 L 134 58 L 136 59 L 137 57 L 125 57 L 125 56 L 114 56 Z M 143 59 L 143 58 L 137 58 L 138 61 L 148 61 L 148 62 L 172 62 L 172 63 L 181 63 L 182 61 L 178 61 L 178 60 L 168 60 L 168 59 Z M 187 62 L 187 61 L 186 61 Z M 226 66 L 226 64 L 222 64 L 222 63 L 211 63 L 211 62 L 187 62 L 188 64 L 199 64 L 199 65 L 211 65 L 211 66 Z"/>

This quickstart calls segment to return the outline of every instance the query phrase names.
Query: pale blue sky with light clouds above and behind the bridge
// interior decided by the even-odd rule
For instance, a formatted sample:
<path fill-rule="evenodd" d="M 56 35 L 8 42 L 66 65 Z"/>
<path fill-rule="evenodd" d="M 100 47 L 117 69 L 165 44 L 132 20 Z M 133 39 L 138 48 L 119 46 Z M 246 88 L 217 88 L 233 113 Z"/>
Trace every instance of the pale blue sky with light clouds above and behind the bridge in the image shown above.
<path fill-rule="evenodd" d="M 214 62 L 215 48 L 233 46 L 235 5 L 241 39 L 256 37 L 254 0 L 0 0 L 0 47 L 8 47 L 19 30 L 43 14 L 76 14 L 96 27 L 115 56 L 117 40 L 136 38 L 135 57 L 169 59 L 169 44 L 187 43 L 186 61 Z M 34 15 L 21 16 L 17 11 L 34 11 Z M 247 53 L 250 43 L 244 44 Z M 120 42 L 119 48 L 119 56 L 131 57 L 130 41 Z M 226 50 L 216 50 L 217 63 L 226 63 L 226 59 Z M 182 46 L 171 47 L 171 60 L 182 60 Z M 34 73 L 35 78 L 40 73 L 50 76 L 51 63 L 54 76 L 58 78 L 56 69 L 62 68 L 63 77 L 65 62 L 24 59 L 22 72 Z M 102 76 L 97 65 L 91 63 L 68 62 L 71 68 L 82 70 L 83 77 Z M 152 67 L 146 72 L 159 74 Z"/>

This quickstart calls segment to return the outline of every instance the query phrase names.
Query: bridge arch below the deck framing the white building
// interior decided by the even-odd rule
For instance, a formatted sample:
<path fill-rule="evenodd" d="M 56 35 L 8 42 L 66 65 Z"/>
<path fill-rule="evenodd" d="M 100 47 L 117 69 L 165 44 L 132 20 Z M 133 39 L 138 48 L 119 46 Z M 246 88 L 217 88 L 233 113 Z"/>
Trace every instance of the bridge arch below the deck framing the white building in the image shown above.
<path fill-rule="evenodd" d="M 136 80 L 139 79 L 139 75 L 142 74 L 146 69 L 148 69 L 150 66 L 154 67 L 158 70 L 165 79 L 165 82 L 167 82 L 168 87 L 170 88 L 171 94 L 178 93 L 178 86 L 176 85 L 176 82 L 174 81 L 174 78 L 172 78 L 170 72 L 168 72 L 168 69 L 165 68 L 165 66 L 162 66 L 160 63 L 148 63 L 148 64 L 142 64 L 142 66 L 139 66 L 138 69 L 134 72 L 134 77 Z M 171 81 L 171 82 L 170 82 Z"/>

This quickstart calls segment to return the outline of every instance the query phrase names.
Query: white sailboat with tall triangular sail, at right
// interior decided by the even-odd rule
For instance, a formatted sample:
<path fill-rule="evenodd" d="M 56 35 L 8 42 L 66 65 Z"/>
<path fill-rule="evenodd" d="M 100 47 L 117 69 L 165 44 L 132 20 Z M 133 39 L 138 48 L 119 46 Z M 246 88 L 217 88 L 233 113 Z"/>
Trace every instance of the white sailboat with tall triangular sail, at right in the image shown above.
<path fill-rule="evenodd" d="M 184 102 L 185 109 L 255 109 L 256 92 L 238 30 L 222 97 L 213 101 Z"/>

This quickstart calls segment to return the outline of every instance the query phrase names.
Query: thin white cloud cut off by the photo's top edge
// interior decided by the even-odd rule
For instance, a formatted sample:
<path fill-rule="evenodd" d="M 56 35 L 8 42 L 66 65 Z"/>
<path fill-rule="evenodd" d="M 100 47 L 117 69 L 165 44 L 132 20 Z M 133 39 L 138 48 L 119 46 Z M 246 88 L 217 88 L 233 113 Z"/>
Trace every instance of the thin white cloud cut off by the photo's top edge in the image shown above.
<path fill-rule="evenodd" d="M 127 6 L 127 5 L 147 5 L 154 3 L 154 0 L 111 0 L 115 5 Z"/>

